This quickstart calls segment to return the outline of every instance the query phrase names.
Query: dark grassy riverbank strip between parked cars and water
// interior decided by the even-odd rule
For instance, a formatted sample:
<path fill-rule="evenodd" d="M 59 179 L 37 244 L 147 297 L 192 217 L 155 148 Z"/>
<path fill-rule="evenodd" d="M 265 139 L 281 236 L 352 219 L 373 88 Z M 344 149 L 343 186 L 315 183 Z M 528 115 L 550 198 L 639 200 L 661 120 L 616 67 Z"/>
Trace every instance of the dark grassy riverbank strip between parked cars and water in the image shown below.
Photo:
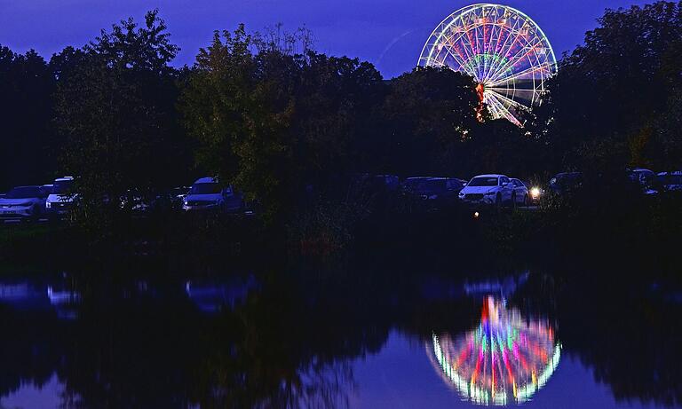
<path fill-rule="evenodd" d="M 228 260 L 250 263 L 272 258 L 297 261 L 345 258 L 391 259 L 428 264 L 509 265 L 581 261 L 595 265 L 638 263 L 670 279 L 678 277 L 682 237 L 678 196 L 628 201 L 544 201 L 537 208 L 448 208 L 382 213 L 331 220 L 305 236 L 288 226 L 266 227 L 256 216 L 171 214 L 126 221 L 105 239 L 65 223 L 0 227 L 3 263 L 101 263 L 107 260 L 165 260 L 191 265 Z M 329 223 L 331 223 L 329 222 Z M 330 232 L 331 231 L 331 232 Z M 343 238 L 337 232 L 343 231 Z M 304 240 L 305 239 L 305 240 Z M 439 256 L 432 256 L 439 255 Z"/>

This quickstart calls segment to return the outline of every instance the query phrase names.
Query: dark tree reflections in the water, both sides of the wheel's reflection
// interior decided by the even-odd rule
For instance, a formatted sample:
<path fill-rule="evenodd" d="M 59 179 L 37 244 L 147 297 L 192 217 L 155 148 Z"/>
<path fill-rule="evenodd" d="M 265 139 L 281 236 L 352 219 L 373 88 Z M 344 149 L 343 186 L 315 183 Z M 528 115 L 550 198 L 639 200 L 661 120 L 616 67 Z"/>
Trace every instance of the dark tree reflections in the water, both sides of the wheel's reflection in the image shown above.
<path fill-rule="evenodd" d="M 392 328 L 426 340 L 477 323 L 480 300 L 458 294 L 456 278 L 428 277 L 274 274 L 246 303 L 215 315 L 179 289 L 128 298 L 90 290 L 75 321 L 0 306 L 0 395 L 56 373 L 69 407 L 344 406 L 352 359 L 381 350 Z M 679 306 L 625 284 L 542 283 L 529 282 L 512 303 L 535 316 L 549 311 L 565 352 L 593 367 L 615 397 L 682 402 Z"/>

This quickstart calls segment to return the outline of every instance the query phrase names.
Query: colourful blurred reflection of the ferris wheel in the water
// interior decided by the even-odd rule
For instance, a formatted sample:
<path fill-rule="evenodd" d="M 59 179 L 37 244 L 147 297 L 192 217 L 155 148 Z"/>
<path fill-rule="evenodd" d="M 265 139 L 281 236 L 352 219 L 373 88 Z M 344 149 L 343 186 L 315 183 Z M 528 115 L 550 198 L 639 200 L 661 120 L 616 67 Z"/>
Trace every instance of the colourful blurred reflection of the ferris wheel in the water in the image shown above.
<path fill-rule="evenodd" d="M 443 379 L 478 405 L 527 402 L 559 365 L 561 345 L 549 323 L 523 319 L 492 296 L 466 334 L 433 334 L 429 358 Z"/>

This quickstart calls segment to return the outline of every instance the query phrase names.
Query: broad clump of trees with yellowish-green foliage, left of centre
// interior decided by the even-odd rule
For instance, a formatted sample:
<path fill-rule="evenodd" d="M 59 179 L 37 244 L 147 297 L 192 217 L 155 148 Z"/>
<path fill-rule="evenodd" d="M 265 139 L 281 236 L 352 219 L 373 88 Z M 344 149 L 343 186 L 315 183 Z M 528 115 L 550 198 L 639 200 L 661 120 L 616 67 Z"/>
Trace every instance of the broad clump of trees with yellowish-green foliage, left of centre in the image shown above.
<path fill-rule="evenodd" d="M 307 186 L 353 167 L 353 147 L 382 86 L 374 67 L 310 50 L 291 53 L 273 35 L 216 32 L 183 94 L 199 164 L 261 203 L 262 216 L 289 215 Z M 368 102 L 369 101 L 369 102 Z"/>

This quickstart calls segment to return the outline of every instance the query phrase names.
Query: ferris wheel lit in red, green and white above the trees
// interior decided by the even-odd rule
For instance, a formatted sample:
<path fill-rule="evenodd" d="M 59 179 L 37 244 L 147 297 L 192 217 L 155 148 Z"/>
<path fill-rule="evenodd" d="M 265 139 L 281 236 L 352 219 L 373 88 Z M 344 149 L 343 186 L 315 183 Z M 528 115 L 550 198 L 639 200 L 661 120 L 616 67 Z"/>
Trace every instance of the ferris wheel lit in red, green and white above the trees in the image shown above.
<path fill-rule="evenodd" d="M 540 104 L 547 79 L 557 72 L 543 30 L 500 4 L 472 4 L 450 14 L 424 44 L 418 66 L 471 75 L 490 114 L 519 126 L 521 111 Z"/>

